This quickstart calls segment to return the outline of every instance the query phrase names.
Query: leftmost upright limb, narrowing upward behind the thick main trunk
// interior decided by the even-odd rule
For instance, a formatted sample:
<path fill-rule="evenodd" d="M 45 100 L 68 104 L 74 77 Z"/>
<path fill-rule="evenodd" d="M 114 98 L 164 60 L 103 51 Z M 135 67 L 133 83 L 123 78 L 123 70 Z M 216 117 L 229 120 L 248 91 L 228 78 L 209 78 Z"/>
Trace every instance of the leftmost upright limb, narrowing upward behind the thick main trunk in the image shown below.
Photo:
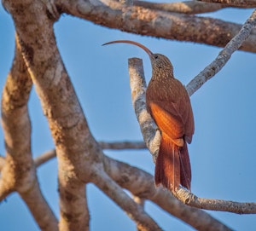
<path fill-rule="evenodd" d="M 24 199 L 42 230 L 57 230 L 57 220 L 40 191 L 32 161 L 31 124 L 27 112 L 31 88 L 32 80 L 27 72 L 20 53 L 20 43 L 16 37 L 15 61 L 2 95 L 6 158 L 0 185 L 1 188 L 3 185 L 8 185 L 9 189 L 20 193 L 20 197 Z M 2 189 L 1 191 L 3 192 Z"/>

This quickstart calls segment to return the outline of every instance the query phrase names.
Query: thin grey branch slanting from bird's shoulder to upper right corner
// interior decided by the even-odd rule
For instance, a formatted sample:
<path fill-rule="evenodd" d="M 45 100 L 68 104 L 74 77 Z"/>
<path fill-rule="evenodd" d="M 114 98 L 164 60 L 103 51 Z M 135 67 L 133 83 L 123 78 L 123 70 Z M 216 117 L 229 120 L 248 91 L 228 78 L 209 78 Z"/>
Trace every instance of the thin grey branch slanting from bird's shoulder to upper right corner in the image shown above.
<path fill-rule="evenodd" d="M 212 78 L 217 72 L 219 72 L 222 69 L 222 67 L 227 63 L 227 61 L 230 60 L 231 55 L 241 47 L 244 41 L 247 40 L 247 38 L 250 35 L 250 32 L 253 30 L 255 26 L 256 10 L 253 11 L 253 14 L 241 27 L 240 32 L 238 32 L 238 34 L 230 40 L 230 42 L 224 47 L 224 49 L 221 50 L 217 58 L 189 82 L 189 84 L 186 86 L 189 95 L 195 93 L 195 91 L 198 90 L 202 86 L 202 84 L 205 84 L 207 80 Z"/>

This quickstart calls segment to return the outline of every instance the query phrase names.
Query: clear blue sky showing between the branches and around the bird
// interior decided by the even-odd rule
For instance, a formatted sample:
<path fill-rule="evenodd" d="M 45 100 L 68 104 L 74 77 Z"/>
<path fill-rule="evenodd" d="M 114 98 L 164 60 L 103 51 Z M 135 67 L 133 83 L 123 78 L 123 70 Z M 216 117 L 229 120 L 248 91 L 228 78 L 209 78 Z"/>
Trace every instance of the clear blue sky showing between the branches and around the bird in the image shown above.
<path fill-rule="evenodd" d="M 223 9 L 207 15 L 243 23 L 252 11 Z M 3 90 L 14 57 L 15 31 L 10 15 L 2 6 L 0 34 L 0 89 Z M 150 62 L 142 49 L 129 44 L 102 47 L 102 43 L 116 39 L 143 43 L 154 53 L 162 53 L 170 58 L 174 74 L 183 84 L 188 84 L 221 50 L 202 44 L 119 32 L 69 15 L 62 15 L 55 23 L 55 35 L 90 130 L 98 141 L 142 140 L 131 105 L 128 58 L 143 58 L 147 81 L 151 77 Z M 255 54 L 236 52 L 221 72 L 191 97 L 195 136 L 189 145 L 189 155 L 192 192 L 199 197 L 256 201 L 255 57 Z M 54 144 L 34 90 L 29 110 L 32 118 L 32 153 L 36 157 L 54 148 Z M 2 127 L 0 153 L 4 154 Z M 106 153 L 154 174 L 152 158 L 147 150 Z M 55 159 L 38 168 L 38 179 L 45 198 L 56 216 L 59 216 Z M 87 191 L 91 230 L 135 230 L 134 223 L 125 212 L 95 186 L 89 185 Z M 149 202 L 146 203 L 146 209 L 164 230 L 194 230 Z M 255 230 L 256 215 L 208 212 L 235 230 Z M 1 203 L 0 227 L 3 231 L 39 230 L 17 193 L 9 195 Z"/>

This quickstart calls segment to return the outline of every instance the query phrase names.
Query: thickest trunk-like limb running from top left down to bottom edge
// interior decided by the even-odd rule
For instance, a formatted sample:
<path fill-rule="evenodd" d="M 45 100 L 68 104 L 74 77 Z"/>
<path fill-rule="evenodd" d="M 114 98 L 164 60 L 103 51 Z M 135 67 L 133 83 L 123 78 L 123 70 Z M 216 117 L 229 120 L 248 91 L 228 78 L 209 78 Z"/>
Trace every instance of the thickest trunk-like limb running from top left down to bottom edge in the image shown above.
<path fill-rule="evenodd" d="M 90 179 L 91 163 L 96 158 L 91 153 L 95 153 L 98 147 L 90 135 L 56 47 L 55 19 L 49 15 L 44 1 L 6 0 L 4 6 L 15 21 L 22 55 L 55 141 L 59 164 L 61 230 L 88 230 L 89 211 L 84 182 Z"/>

